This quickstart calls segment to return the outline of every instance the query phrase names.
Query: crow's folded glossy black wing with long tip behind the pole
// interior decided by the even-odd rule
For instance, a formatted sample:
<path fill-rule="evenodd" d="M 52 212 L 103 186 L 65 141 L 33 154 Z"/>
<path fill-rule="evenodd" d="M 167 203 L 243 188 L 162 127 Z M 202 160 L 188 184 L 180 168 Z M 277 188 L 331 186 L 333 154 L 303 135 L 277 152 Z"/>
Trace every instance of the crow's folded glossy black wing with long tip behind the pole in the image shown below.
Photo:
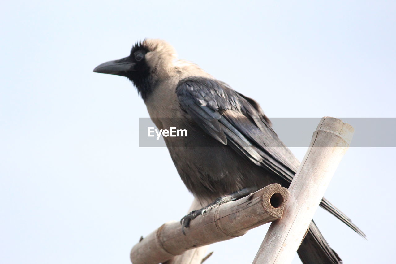
<path fill-rule="evenodd" d="M 210 136 L 291 183 L 300 162 L 272 130 L 259 104 L 224 82 L 187 77 L 176 88 L 180 105 Z M 326 199 L 320 206 L 363 237 L 366 235 Z"/>

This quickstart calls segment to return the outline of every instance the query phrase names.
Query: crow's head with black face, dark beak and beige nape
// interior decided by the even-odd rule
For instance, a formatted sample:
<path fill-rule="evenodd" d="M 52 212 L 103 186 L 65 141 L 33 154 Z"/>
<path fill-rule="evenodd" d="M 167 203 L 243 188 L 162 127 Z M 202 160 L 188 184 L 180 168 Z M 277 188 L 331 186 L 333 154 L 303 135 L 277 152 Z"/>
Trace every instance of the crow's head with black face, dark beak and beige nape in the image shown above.
<path fill-rule="evenodd" d="M 166 41 L 145 39 L 132 47 L 128 57 L 102 63 L 93 72 L 127 77 L 145 99 L 158 80 L 174 73 L 175 59 L 176 52 Z"/>

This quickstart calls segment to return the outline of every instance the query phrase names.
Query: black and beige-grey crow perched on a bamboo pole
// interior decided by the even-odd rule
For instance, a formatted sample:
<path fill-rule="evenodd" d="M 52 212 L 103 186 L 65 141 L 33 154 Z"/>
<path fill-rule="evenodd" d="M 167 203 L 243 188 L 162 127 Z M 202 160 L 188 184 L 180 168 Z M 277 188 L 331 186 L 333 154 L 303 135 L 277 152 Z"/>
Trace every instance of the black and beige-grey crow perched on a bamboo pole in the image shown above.
<path fill-rule="evenodd" d="M 199 201 L 213 203 L 182 218 L 183 227 L 220 203 L 273 183 L 287 188 L 293 180 L 300 162 L 278 138 L 259 103 L 198 65 L 177 59 L 165 40 L 136 42 L 127 57 L 93 71 L 127 77 L 158 129 L 187 129 L 187 137 L 164 137 L 165 143 L 187 189 Z M 366 237 L 327 199 L 320 206 Z M 313 221 L 297 253 L 304 264 L 342 263 Z"/>

